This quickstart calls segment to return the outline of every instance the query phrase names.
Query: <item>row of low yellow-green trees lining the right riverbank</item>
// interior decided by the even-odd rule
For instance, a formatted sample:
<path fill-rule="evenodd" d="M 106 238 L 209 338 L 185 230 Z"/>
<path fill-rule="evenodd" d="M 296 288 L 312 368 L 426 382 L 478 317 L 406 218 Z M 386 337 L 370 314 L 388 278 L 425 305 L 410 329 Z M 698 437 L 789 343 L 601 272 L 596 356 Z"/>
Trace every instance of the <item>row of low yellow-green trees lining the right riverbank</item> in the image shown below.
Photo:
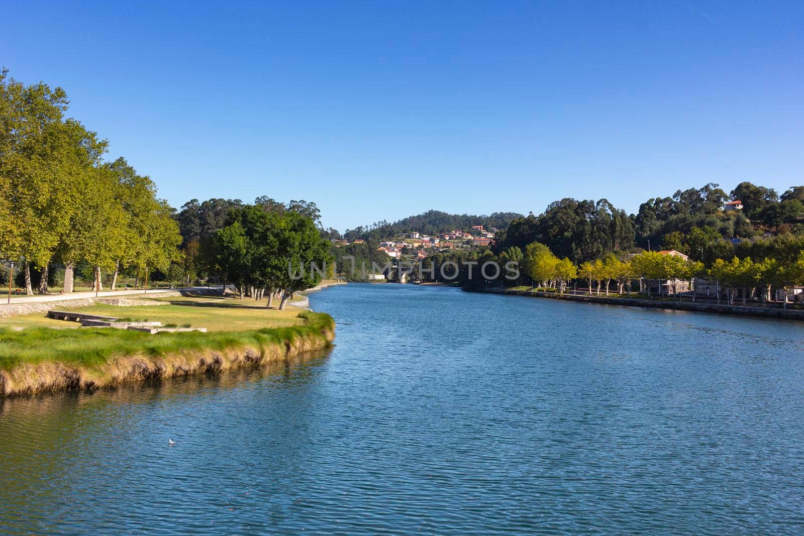
<path fill-rule="evenodd" d="M 794 285 L 804 284 L 804 250 L 800 247 L 796 249 L 798 240 L 782 237 L 763 240 L 764 248 L 754 249 L 756 252 L 776 252 L 778 257 L 761 256 L 757 257 L 760 259 L 757 261 L 750 256 L 732 257 L 732 260 L 717 259 L 710 266 L 659 252 L 625 256 L 626 260 L 609 254 L 575 264 L 568 257 L 556 256 L 543 243 L 530 243 L 524 251 L 511 247 L 498 255 L 490 250 L 439 252 L 427 257 L 424 262 L 426 271 L 418 275 L 424 280 L 457 281 L 470 289 L 494 284 L 532 284 L 555 288 L 558 293 L 567 292 L 568 285 L 576 281 L 581 288 L 585 285 L 587 293 L 596 293 L 598 296 L 608 296 L 612 291 L 629 295 L 638 284 L 639 291 L 648 297 L 653 295 L 654 288 L 658 288 L 662 297 L 672 293 L 679 299 L 679 284 L 699 278 L 707 287 L 719 289 L 716 293 L 719 302 L 724 298 L 732 304 L 739 294 L 744 304 L 747 300 L 761 300 L 764 304 L 772 299 L 773 288 L 786 291 Z M 504 267 L 509 261 L 520 268 L 516 280 L 511 280 L 510 271 L 480 271 L 483 264 L 494 263 Z M 432 271 L 429 270 L 430 263 L 433 265 Z M 457 272 L 453 268 L 456 265 Z M 785 304 L 786 296 L 785 292 Z M 695 293 L 692 299 L 695 300 Z"/>

